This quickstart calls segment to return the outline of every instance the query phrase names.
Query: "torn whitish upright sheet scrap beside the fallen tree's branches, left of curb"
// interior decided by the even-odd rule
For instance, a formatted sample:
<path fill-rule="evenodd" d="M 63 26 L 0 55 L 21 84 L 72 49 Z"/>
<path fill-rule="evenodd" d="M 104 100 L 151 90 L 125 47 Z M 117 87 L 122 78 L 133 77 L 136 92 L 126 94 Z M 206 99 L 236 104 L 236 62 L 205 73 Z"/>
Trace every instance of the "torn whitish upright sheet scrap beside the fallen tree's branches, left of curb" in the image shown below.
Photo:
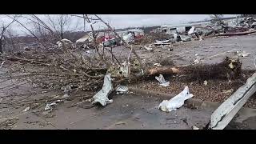
<path fill-rule="evenodd" d="M 106 74 L 104 78 L 104 83 L 102 86 L 102 90 L 100 90 L 97 94 L 94 95 L 94 101 L 92 104 L 99 102 L 102 106 L 106 106 L 107 103 L 113 102 L 113 100 L 108 98 L 108 95 L 112 92 L 113 86 L 111 82 L 111 74 Z"/>

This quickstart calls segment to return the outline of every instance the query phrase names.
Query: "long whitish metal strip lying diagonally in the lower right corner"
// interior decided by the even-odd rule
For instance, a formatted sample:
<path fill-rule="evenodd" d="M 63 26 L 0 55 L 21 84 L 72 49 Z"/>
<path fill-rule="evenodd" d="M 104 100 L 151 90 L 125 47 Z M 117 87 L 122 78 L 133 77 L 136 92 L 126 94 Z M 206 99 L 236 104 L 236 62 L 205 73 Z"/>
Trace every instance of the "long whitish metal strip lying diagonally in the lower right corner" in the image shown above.
<path fill-rule="evenodd" d="M 241 86 L 227 98 L 221 106 L 211 115 L 210 127 L 212 130 L 222 130 L 234 118 L 238 110 L 247 102 L 248 98 L 256 91 L 256 73 L 247 79 L 246 84 Z"/>

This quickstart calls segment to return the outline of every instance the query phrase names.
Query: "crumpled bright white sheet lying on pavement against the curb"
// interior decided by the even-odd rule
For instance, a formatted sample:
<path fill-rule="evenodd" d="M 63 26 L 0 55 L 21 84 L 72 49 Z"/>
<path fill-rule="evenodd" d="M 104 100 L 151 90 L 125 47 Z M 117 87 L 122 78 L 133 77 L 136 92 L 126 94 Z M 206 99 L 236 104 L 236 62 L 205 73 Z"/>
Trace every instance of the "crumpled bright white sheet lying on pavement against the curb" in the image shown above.
<path fill-rule="evenodd" d="M 170 112 L 172 110 L 177 110 L 181 106 L 184 105 L 184 102 L 188 98 L 192 98 L 193 94 L 190 94 L 190 90 L 188 86 L 185 86 L 184 90 L 176 95 L 174 98 L 171 98 L 169 101 L 164 100 L 160 103 L 158 106 L 158 109 L 165 111 L 165 112 Z"/>

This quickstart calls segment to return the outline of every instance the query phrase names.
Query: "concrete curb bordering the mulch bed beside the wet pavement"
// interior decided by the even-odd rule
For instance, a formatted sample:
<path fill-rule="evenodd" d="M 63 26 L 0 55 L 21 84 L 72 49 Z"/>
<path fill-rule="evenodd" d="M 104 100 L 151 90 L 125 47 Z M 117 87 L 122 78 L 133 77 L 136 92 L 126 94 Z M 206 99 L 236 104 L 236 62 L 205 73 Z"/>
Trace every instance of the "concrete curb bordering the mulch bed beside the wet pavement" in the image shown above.
<path fill-rule="evenodd" d="M 162 93 L 154 90 L 143 90 L 135 87 L 128 87 L 128 89 L 134 92 L 135 94 L 148 95 L 155 98 L 160 98 L 161 100 L 169 100 L 170 98 L 173 98 L 175 96 L 174 94 Z M 190 98 L 186 100 L 185 104 L 188 106 L 198 107 L 202 109 L 207 108 L 207 109 L 216 110 L 218 106 L 220 106 L 222 103 L 202 101 L 197 98 Z M 234 121 L 243 122 L 250 117 L 256 117 L 256 109 L 242 107 L 242 109 L 238 111 L 238 117 L 234 118 Z"/>

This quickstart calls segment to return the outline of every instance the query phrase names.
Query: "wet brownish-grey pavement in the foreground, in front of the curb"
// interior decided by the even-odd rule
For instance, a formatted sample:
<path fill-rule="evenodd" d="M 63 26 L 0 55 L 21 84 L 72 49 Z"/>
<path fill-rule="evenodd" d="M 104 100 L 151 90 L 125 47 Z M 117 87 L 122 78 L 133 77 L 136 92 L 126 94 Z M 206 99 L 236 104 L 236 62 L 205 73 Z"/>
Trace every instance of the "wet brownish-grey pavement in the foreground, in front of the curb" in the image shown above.
<path fill-rule="evenodd" d="M 138 95 L 114 95 L 114 102 L 106 107 L 90 109 L 81 106 L 69 107 L 74 101 L 59 104 L 46 116 L 34 114 L 24 107 L 16 109 L 18 117 L 12 129 L 182 129 L 191 126 L 202 128 L 210 119 L 210 110 L 191 110 L 182 107 L 170 113 L 158 110 L 161 102 L 157 98 Z M 86 105 L 86 104 L 85 104 Z M 40 113 L 43 113 L 41 111 Z"/>

